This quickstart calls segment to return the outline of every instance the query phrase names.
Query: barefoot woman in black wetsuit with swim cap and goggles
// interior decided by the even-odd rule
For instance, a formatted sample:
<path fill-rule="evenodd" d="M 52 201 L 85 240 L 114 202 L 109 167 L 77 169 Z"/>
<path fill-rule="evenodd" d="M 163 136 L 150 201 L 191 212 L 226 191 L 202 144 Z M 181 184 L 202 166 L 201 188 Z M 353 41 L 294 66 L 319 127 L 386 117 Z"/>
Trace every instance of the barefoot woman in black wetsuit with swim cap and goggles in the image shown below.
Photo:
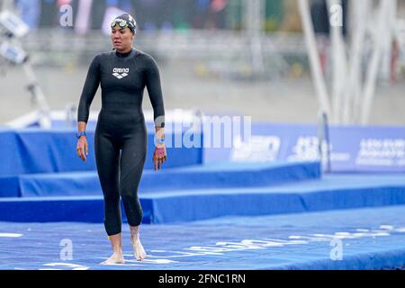
<path fill-rule="evenodd" d="M 148 54 L 132 48 L 136 22 L 123 14 L 112 22 L 113 51 L 95 56 L 90 65 L 77 112 L 77 155 L 86 161 L 85 127 L 98 86 L 102 87 L 102 110 L 94 134 L 97 172 L 103 189 L 104 227 L 113 254 L 102 264 L 124 263 L 121 246 L 120 196 L 130 225 L 134 257 L 146 257 L 139 240 L 142 208 L 139 180 L 147 154 L 147 130 L 142 98 L 148 88 L 156 128 L 155 170 L 166 161 L 164 144 L 165 108 L 157 63 Z"/>

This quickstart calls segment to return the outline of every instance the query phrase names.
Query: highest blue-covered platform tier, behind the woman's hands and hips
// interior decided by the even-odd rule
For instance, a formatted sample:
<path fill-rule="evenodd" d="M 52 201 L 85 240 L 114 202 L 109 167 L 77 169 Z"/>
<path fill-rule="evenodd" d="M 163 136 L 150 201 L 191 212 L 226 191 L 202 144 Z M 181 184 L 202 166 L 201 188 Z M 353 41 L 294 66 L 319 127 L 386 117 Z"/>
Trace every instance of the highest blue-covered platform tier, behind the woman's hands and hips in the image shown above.
<path fill-rule="evenodd" d="M 75 130 L 0 130 L 0 175 L 95 171 L 94 131 L 88 131 L 89 155 L 84 163 L 76 155 Z M 185 131 L 167 135 L 184 135 Z M 154 131 L 148 133 L 146 169 L 154 168 Z M 199 134 L 197 134 L 199 135 Z M 202 148 L 167 148 L 166 167 L 202 164 Z"/>

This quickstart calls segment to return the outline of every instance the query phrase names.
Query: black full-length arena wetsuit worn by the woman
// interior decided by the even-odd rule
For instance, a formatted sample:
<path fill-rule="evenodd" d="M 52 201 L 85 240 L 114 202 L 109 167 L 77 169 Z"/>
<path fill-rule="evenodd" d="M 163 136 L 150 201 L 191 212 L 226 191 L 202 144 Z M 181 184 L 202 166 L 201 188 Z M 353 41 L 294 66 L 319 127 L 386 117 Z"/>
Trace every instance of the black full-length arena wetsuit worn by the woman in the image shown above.
<path fill-rule="evenodd" d="M 112 236 L 121 233 L 120 195 L 130 226 L 139 226 L 142 220 L 138 186 L 148 143 L 142 112 L 145 86 L 156 127 L 164 127 L 165 109 L 157 64 L 139 50 L 132 49 L 127 54 L 112 51 L 93 59 L 77 121 L 88 121 L 90 105 L 100 84 L 102 110 L 94 134 L 94 151 L 104 196 L 104 225 Z"/>

